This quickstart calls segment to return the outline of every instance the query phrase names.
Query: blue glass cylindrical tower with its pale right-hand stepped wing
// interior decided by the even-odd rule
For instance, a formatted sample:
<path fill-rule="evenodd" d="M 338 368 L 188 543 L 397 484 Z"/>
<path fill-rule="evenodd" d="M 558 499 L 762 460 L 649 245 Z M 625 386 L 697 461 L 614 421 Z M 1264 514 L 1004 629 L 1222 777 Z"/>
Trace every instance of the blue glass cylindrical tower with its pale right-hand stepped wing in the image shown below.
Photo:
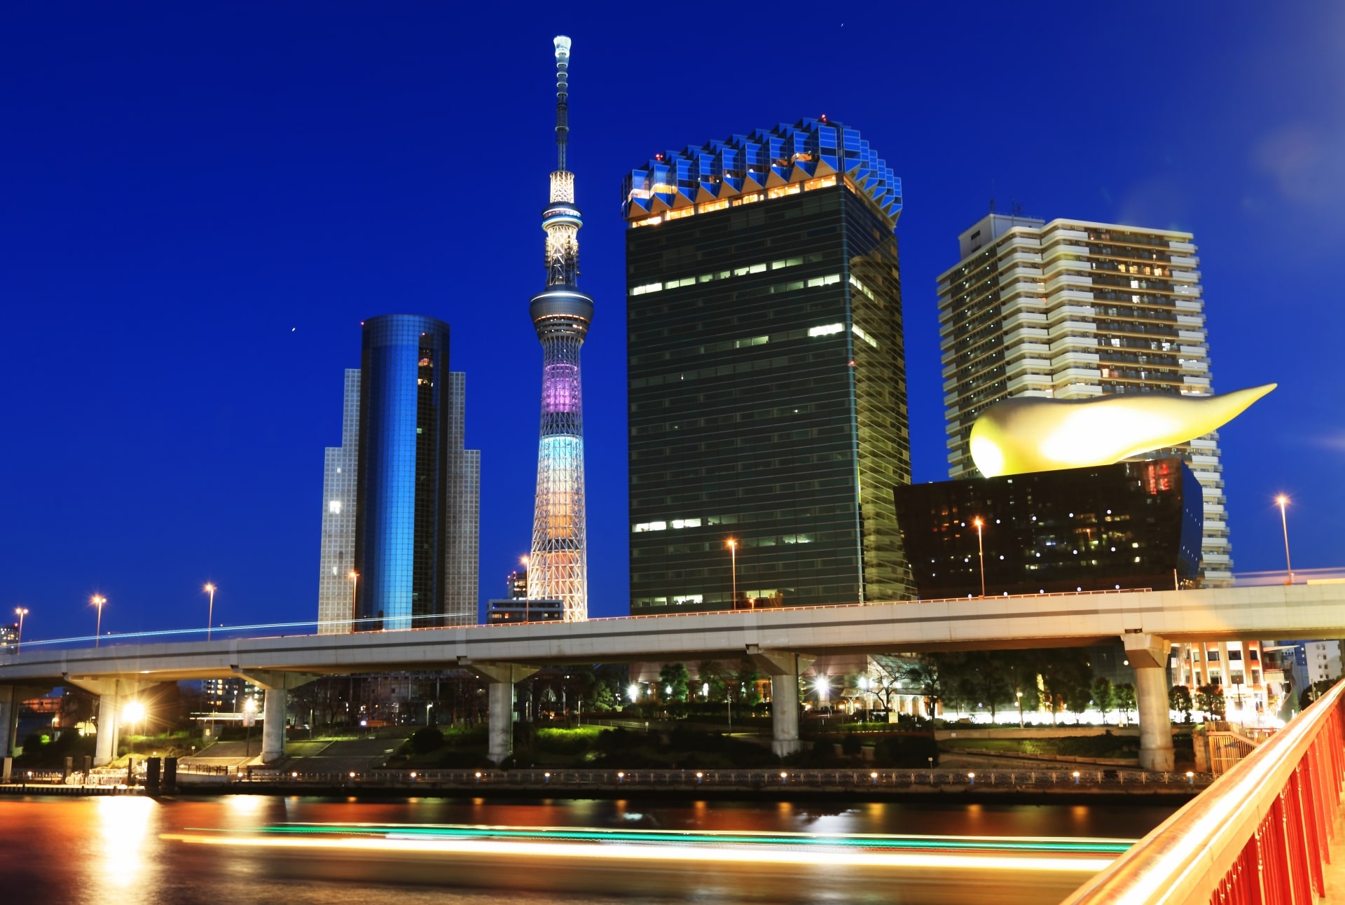
<path fill-rule="evenodd" d="M 476 621 L 480 460 L 463 449 L 449 328 L 417 315 L 364 321 L 354 584 L 358 629 Z"/>

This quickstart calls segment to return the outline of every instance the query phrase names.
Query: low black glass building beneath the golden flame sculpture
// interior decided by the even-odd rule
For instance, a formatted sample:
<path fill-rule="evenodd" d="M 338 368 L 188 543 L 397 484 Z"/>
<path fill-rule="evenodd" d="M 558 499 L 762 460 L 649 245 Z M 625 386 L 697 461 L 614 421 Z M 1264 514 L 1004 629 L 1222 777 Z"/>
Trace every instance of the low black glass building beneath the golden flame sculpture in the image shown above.
<path fill-rule="evenodd" d="M 1200 484 L 1176 456 L 898 487 L 923 598 L 1196 584 Z M 975 520 L 982 520 L 978 531 Z"/>

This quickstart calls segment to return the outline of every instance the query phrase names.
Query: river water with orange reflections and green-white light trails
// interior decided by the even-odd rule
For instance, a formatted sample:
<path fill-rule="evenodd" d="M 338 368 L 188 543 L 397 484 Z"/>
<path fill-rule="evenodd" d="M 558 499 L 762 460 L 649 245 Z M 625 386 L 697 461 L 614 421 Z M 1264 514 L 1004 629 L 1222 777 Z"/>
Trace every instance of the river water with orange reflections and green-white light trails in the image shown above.
<path fill-rule="evenodd" d="M 1048 904 L 1115 855 L 1011 839 L 1138 839 L 1169 814 L 1147 804 L 3 797 L 0 901 Z M 1002 851 L 1013 846 L 1029 850 Z"/>

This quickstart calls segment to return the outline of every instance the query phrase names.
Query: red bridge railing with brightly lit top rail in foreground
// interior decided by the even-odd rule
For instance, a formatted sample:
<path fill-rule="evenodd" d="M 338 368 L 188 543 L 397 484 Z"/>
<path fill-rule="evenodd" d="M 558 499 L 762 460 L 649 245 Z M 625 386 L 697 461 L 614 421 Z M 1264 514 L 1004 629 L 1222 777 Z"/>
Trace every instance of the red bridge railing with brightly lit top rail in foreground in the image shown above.
<path fill-rule="evenodd" d="M 1345 779 L 1342 707 L 1345 682 L 1065 905 L 1317 905 Z"/>

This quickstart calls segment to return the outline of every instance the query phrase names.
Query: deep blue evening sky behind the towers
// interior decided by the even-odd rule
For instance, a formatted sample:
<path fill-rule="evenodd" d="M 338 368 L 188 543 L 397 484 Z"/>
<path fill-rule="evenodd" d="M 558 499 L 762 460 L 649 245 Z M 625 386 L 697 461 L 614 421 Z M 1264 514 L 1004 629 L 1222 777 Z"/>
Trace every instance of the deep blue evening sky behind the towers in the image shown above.
<path fill-rule="evenodd" d="M 1345 7 L 7 4 L 0 612 L 30 637 L 316 615 L 323 446 L 359 321 L 452 324 L 482 596 L 529 545 L 553 168 L 574 39 L 593 615 L 627 608 L 623 171 L 826 113 L 904 180 L 916 480 L 944 477 L 935 277 L 1030 215 L 1192 230 L 1236 569 L 1345 565 Z M 557 4 L 560 5 L 560 4 Z M 476 7 L 473 7 L 475 9 Z M 699 11 L 698 11 L 699 9 Z M 880 12 L 874 12 L 878 9 Z"/>

